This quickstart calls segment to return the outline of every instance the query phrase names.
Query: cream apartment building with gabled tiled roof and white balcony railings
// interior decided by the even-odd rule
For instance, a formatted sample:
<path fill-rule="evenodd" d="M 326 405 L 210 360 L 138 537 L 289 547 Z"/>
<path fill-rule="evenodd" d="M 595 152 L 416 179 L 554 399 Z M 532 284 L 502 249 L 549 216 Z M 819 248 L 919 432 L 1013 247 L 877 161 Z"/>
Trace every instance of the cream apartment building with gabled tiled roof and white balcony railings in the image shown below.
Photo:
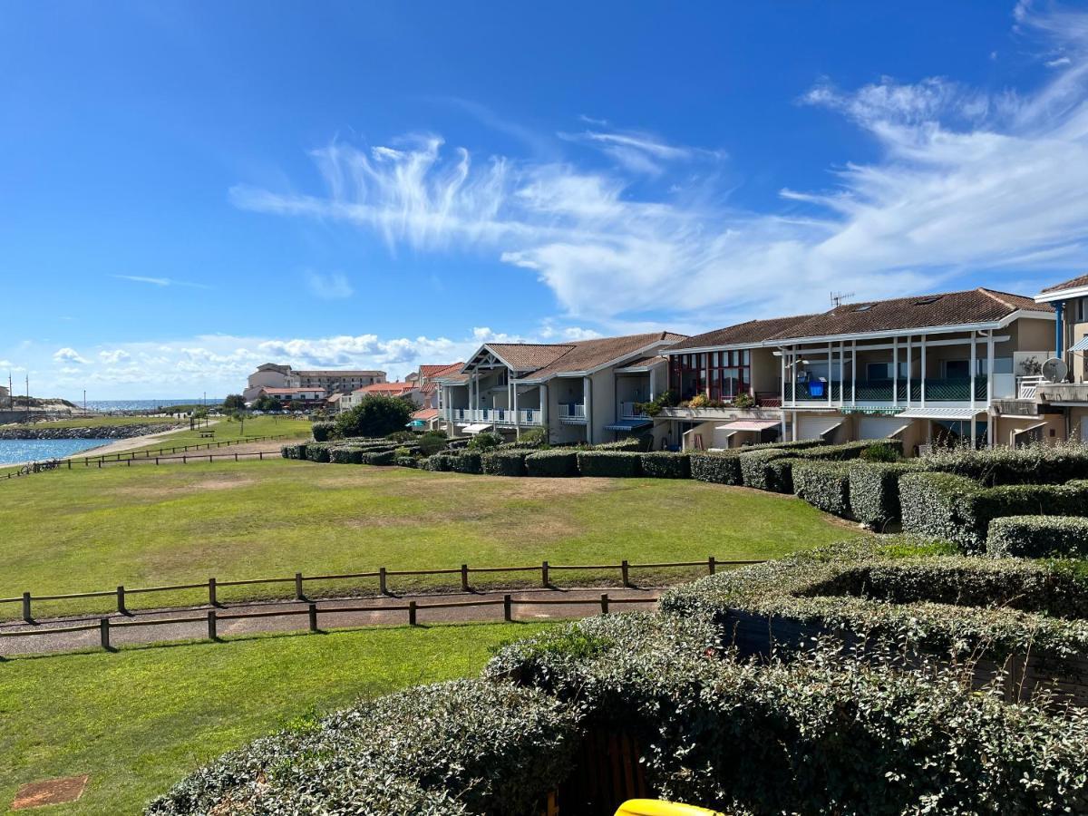
<path fill-rule="evenodd" d="M 639 404 L 666 387 L 672 332 L 574 343 L 485 343 L 459 371 L 437 375 L 450 436 L 543 428 L 552 442 L 608 442 L 653 420 Z"/>

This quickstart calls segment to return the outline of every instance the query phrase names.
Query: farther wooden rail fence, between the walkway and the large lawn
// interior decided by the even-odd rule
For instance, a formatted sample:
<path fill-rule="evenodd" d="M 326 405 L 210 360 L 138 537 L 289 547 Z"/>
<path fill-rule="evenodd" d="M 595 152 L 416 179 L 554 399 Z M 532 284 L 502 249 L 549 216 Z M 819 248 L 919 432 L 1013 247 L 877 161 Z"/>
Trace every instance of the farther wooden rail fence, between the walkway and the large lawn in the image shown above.
<path fill-rule="evenodd" d="M 184 584 L 168 584 L 163 586 L 139 586 L 139 588 L 126 588 L 124 585 L 118 586 L 115 590 L 98 590 L 95 592 L 71 592 L 62 594 L 49 594 L 39 595 L 30 592 L 24 592 L 17 597 L 2 597 L 0 598 L 0 605 L 4 604 L 21 604 L 22 605 L 22 618 L 27 623 L 34 623 L 33 604 L 35 601 L 47 602 L 47 601 L 73 601 L 78 598 L 97 598 L 97 597 L 115 597 L 116 598 L 116 610 L 121 615 L 131 615 L 128 609 L 128 598 L 132 595 L 151 595 L 154 593 L 164 592 L 184 592 L 193 590 L 206 590 L 208 593 L 208 606 L 213 608 L 225 607 L 225 604 L 221 604 L 219 601 L 219 590 L 224 586 L 256 586 L 259 584 L 294 584 L 294 599 L 295 601 L 308 601 L 306 596 L 306 584 L 314 581 L 349 581 L 357 579 L 378 579 L 378 591 L 380 594 L 385 596 L 393 596 L 394 593 L 390 591 L 388 579 L 391 577 L 400 576 L 458 576 L 460 579 L 460 590 L 462 592 L 472 592 L 472 585 L 469 580 L 472 574 L 504 574 L 504 573 L 515 573 L 515 572 L 528 572 L 528 573 L 540 573 L 541 586 L 543 589 L 556 589 L 555 584 L 552 583 L 552 574 L 554 572 L 564 571 L 610 571 L 617 570 L 620 574 L 620 580 L 623 588 L 633 588 L 631 583 L 631 570 L 639 569 L 668 569 L 678 567 L 705 567 L 708 574 L 714 574 L 718 567 L 740 567 L 750 564 L 763 564 L 763 560 L 718 560 L 713 555 L 706 560 L 702 561 L 663 561 L 656 564 L 631 564 L 627 559 L 620 561 L 619 564 L 549 564 L 548 561 L 542 561 L 540 565 L 533 565 L 531 567 L 470 567 L 467 564 L 462 564 L 460 567 L 455 567 L 450 569 L 387 569 L 385 567 L 379 567 L 378 570 L 368 572 L 343 572 L 343 573 L 327 573 L 327 574 L 317 574 L 317 576 L 306 576 L 301 572 L 296 572 L 289 578 L 247 578 L 233 581 L 220 581 L 215 578 L 209 578 L 207 581 L 199 581 L 196 583 L 184 583 Z M 482 602 L 482 601 L 466 601 L 457 602 L 455 605 L 473 606 L 481 604 L 494 604 L 495 601 Z M 529 602 L 516 602 L 516 603 L 529 603 Z M 535 601 L 532 603 L 570 603 L 566 601 Z M 579 603 L 584 603 L 579 602 Z M 613 603 L 619 603 L 613 599 Z M 382 609 L 390 609 L 394 607 L 383 606 Z M 408 607 L 405 607 L 407 609 Z M 358 610 L 361 611 L 361 610 Z M 274 613 L 276 615 L 287 614 L 287 613 Z M 133 625 L 137 623 L 133 621 Z M 153 626 L 153 623 L 143 623 L 146 626 Z M 114 626 L 122 626 L 121 623 L 114 623 Z M 57 630 L 49 630 L 57 631 Z M 77 630 L 73 630 L 77 631 Z M 20 634 L 27 634 L 27 632 L 15 632 L 15 633 L 3 633 L 4 636 L 13 636 Z"/>

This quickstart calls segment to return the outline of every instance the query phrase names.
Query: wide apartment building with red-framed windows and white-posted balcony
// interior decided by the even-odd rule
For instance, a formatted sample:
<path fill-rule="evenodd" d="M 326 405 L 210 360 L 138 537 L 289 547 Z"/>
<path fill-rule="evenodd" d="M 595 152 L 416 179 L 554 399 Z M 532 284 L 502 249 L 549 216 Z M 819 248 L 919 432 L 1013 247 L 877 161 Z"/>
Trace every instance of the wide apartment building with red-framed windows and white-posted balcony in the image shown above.
<path fill-rule="evenodd" d="M 707 332 L 665 354 L 670 391 L 708 405 L 664 410 L 658 433 L 695 448 L 897 437 L 907 453 L 1064 437 L 1044 415 L 1005 410 L 1053 355 L 1054 318 L 1048 302 L 976 288 Z"/>

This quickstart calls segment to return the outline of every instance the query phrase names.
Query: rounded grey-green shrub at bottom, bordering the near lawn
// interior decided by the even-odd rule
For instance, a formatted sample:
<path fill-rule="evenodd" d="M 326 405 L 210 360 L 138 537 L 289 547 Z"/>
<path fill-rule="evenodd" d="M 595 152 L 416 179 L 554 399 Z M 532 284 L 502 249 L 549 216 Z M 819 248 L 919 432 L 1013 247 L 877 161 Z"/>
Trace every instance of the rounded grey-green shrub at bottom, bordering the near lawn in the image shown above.
<path fill-rule="evenodd" d="M 573 712 L 539 691 L 455 680 L 258 740 L 146 813 L 533 813 L 567 774 L 577 738 Z"/>

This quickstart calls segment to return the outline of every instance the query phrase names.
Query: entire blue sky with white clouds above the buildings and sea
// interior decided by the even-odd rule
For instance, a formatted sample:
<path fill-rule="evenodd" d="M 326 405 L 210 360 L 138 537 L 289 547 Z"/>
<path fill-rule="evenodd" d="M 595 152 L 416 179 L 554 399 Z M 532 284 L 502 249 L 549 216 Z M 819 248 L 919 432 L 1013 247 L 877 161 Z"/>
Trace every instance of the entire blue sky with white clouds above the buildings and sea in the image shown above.
<path fill-rule="evenodd" d="M 1088 7 L 10 2 L 0 376 L 91 398 L 1083 272 Z"/>

